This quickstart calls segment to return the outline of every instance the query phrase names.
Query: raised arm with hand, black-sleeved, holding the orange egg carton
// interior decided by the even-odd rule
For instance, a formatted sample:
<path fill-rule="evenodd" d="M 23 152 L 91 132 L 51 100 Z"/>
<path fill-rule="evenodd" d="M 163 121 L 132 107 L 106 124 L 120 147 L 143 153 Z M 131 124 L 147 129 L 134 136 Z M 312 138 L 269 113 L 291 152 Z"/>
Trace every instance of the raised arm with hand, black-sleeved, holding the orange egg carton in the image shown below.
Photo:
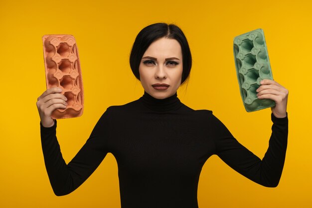
<path fill-rule="evenodd" d="M 63 104 L 64 98 L 55 91 L 57 88 L 45 91 L 38 98 L 37 106 L 41 119 L 41 144 L 45 167 L 54 194 L 62 196 L 77 189 L 106 156 L 107 128 L 103 127 L 107 126 L 108 122 L 104 113 L 85 145 L 71 162 L 66 164 L 56 138 L 57 122 L 50 117 L 53 109 L 62 105 L 65 106 Z"/>

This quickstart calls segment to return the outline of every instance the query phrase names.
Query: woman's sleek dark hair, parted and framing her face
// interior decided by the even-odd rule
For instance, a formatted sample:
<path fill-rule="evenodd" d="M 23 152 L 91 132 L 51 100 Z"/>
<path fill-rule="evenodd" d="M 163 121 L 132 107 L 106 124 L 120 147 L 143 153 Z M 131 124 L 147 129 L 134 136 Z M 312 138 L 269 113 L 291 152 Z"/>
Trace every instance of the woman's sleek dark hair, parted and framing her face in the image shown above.
<path fill-rule="evenodd" d="M 181 46 L 183 63 L 181 84 L 183 84 L 191 71 L 192 56 L 184 33 L 175 24 L 155 23 L 143 28 L 139 32 L 130 54 L 131 70 L 136 78 L 140 80 L 139 66 L 143 54 L 154 41 L 162 37 L 175 39 Z"/>

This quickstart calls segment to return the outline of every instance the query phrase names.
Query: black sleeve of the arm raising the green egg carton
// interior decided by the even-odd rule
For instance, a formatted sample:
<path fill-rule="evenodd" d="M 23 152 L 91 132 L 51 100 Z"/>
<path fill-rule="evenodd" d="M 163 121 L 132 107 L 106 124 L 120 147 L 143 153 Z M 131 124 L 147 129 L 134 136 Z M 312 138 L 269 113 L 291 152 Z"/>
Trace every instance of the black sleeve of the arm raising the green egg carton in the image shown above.
<path fill-rule="evenodd" d="M 250 180 L 266 186 L 276 187 L 279 184 L 287 149 L 288 117 L 277 118 L 271 114 L 273 121 L 269 147 L 261 160 L 241 145 L 228 129 L 215 118 L 217 125 L 223 128 L 215 132 L 217 155 L 231 168 Z"/>

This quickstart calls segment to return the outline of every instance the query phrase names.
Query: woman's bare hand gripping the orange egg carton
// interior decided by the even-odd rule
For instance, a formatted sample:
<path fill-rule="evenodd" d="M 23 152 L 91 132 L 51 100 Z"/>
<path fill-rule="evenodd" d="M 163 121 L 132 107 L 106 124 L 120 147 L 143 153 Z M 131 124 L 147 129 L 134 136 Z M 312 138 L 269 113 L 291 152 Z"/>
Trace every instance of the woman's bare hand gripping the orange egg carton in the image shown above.
<path fill-rule="evenodd" d="M 67 98 L 61 94 L 62 89 L 50 88 L 37 99 L 37 108 L 41 124 L 44 127 L 51 127 L 54 125 L 54 119 L 51 118 L 51 114 L 55 109 L 66 108 Z"/>

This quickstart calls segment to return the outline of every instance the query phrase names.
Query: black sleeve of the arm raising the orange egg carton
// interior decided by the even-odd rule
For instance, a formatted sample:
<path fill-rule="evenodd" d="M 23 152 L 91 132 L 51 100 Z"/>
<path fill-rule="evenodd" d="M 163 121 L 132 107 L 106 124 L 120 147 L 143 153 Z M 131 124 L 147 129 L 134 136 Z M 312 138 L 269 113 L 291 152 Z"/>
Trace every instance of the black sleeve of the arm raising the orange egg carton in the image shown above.
<path fill-rule="evenodd" d="M 53 192 L 62 196 L 77 189 L 99 166 L 107 154 L 107 124 L 105 113 L 94 127 L 89 139 L 77 155 L 66 164 L 56 138 L 56 121 L 52 127 L 40 123 L 41 144 L 45 167 Z"/>

